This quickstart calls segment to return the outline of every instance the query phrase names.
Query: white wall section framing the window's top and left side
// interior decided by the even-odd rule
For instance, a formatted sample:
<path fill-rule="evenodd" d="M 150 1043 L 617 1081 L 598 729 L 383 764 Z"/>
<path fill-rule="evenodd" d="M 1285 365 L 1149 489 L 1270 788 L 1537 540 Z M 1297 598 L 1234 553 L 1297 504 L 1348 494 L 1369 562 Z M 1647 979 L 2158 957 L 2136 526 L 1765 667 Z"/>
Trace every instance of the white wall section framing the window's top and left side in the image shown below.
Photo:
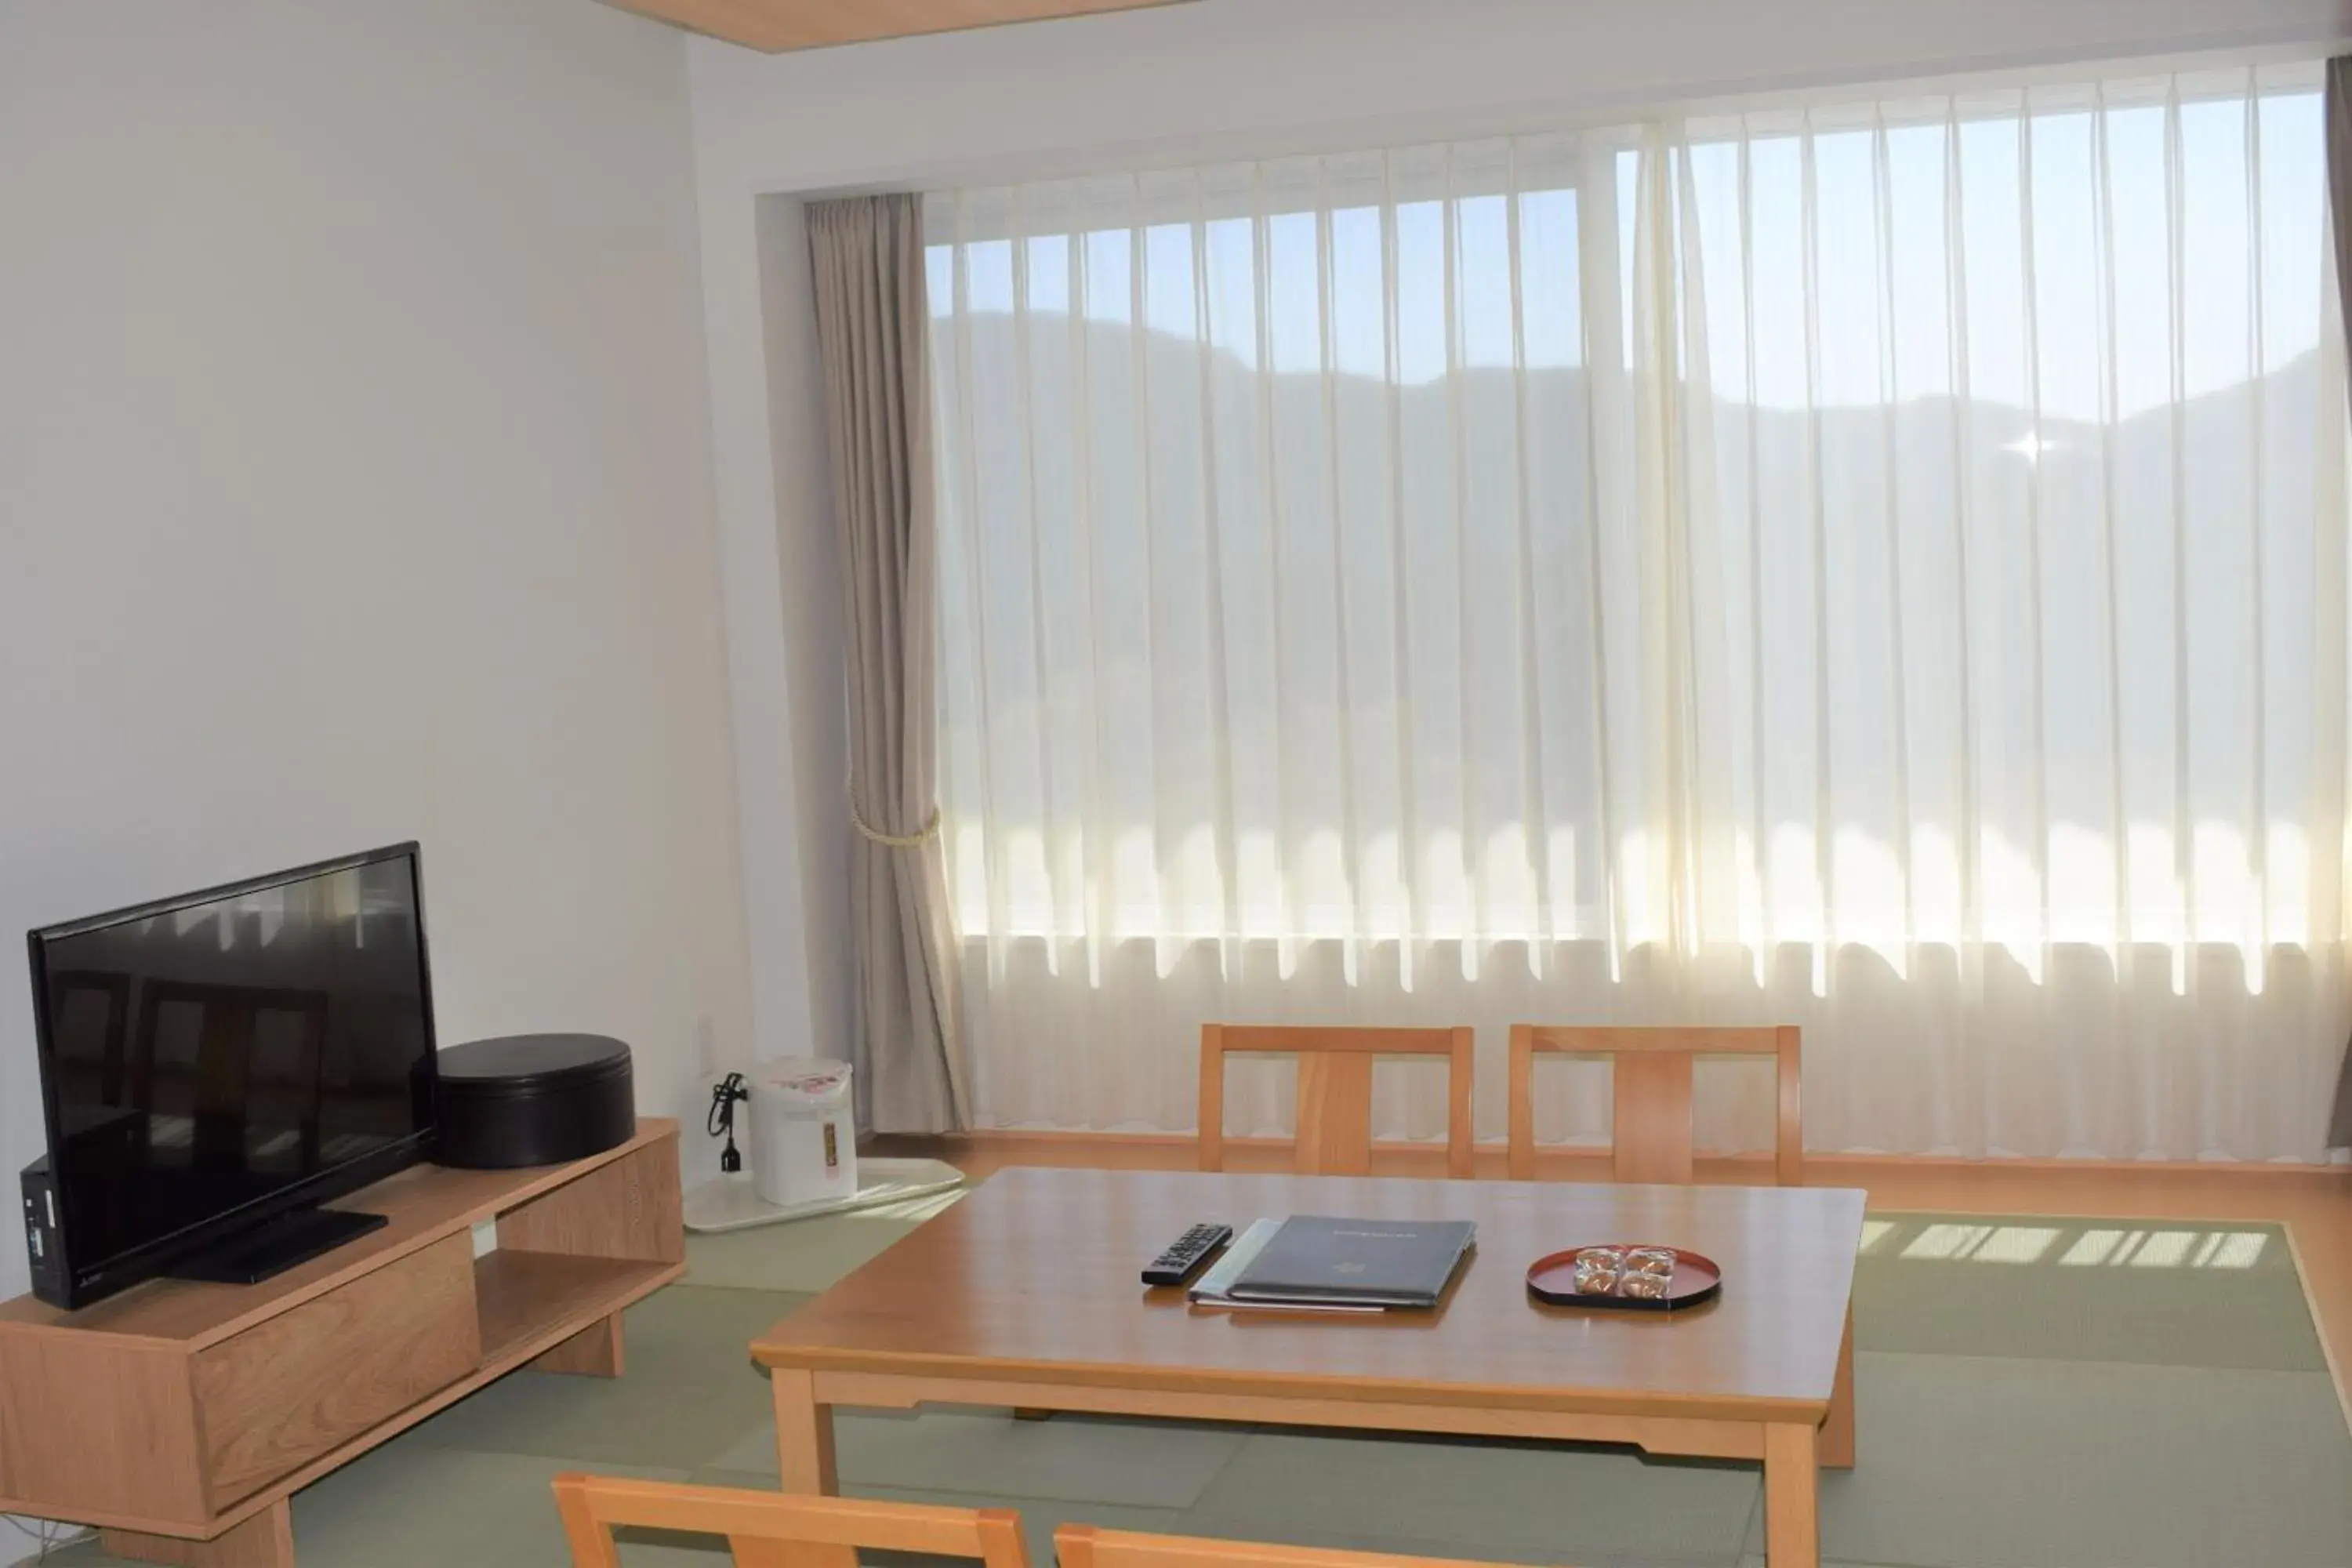
<path fill-rule="evenodd" d="M 800 197 L 2345 40 L 2352 0 L 1195 0 L 804 54 L 689 40 L 762 1053 L 849 1051 L 840 590 Z"/>

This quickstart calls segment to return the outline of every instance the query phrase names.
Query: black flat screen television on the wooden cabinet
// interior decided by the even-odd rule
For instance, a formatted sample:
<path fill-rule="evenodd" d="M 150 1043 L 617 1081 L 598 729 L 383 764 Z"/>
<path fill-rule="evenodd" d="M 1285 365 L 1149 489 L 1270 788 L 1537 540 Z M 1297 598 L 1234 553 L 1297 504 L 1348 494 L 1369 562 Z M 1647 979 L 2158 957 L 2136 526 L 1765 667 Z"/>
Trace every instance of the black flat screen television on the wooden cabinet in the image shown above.
<path fill-rule="evenodd" d="M 416 844 L 28 940 L 49 1157 L 26 1192 L 54 1199 L 35 1295 L 266 1279 L 383 1222 L 320 1204 L 430 1147 Z"/>

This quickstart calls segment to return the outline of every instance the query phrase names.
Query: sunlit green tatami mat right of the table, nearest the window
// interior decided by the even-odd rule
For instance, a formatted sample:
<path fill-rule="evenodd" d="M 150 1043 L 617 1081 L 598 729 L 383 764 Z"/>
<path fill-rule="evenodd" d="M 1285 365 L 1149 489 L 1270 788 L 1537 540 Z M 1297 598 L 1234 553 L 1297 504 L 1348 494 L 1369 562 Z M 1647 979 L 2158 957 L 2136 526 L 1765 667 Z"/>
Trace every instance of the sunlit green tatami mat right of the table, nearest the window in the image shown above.
<path fill-rule="evenodd" d="M 1872 1213 L 1856 1349 L 2324 1373 L 2277 1225 Z"/>

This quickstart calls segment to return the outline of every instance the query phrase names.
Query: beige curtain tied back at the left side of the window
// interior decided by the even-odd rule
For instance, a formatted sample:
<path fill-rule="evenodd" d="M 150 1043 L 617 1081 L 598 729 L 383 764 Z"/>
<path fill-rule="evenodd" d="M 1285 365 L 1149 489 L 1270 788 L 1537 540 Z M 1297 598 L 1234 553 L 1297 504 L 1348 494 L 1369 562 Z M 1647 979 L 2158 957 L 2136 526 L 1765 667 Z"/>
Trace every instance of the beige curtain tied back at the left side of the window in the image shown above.
<path fill-rule="evenodd" d="M 858 1121 L 946 1133 L 971 1112 L 938 853 L 922 205 L 816 202 L 809 259 L 849 642 Z"/>

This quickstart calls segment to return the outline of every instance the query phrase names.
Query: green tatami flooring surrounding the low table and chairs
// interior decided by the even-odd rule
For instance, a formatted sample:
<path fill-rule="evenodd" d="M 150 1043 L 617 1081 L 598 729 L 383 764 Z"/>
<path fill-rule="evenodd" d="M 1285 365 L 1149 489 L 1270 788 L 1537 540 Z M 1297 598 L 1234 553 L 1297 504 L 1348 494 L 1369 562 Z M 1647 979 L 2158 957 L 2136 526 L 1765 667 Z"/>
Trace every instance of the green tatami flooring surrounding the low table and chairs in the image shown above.
<path fill-rule="evenodd" d="M 694 1237 L 628 1314 L 626 1378 L 517 1373 L 393 1439 L 296 1497 L 301 1568 L 560 1568 L 562 1469 L 774 1488 L 748 1345 L 807 1300 L 779 1281 L 823 1288 L 917 1222 Z M 1856 1340 L 1830 1568 L 2352 1568 L 2352 1434 L 2277 1227 L 1879 1213 Z M 1759 1568 L 1764 1540 L 1752 1465 L 1578 1443 L 844 1410 L 837 1462 L 854 1495 L 1018 1509 L 1035 1568 L 1068 1519 L 1578 1568 Z M 621 1561 L 727 1559 L 626 1535 Z"/>

